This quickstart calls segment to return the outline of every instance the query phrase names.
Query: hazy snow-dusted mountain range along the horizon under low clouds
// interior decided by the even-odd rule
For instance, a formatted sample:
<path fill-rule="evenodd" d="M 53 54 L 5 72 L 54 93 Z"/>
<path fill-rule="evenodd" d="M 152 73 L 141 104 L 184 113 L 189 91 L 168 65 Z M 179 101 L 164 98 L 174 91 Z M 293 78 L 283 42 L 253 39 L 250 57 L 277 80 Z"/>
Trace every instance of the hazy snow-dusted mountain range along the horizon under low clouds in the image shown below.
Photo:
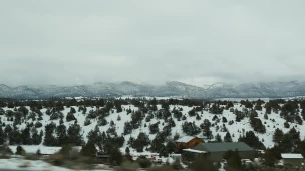
<path fill-rule="evenodd" d="M 106 83 L 97 82 L 76 86 L 7 86 L 0 84 L 1 98 L 46 99 L 50 97 L 120 97 L 120 96 L 156 96 L 179 98 L 279 98 L 305 96 L 305 82 L 261 82 L 231 85 L 215 83 L 195 86 L 182 82 L 166 82 L 164 85 L 147 85 L 133 82 Z"/>

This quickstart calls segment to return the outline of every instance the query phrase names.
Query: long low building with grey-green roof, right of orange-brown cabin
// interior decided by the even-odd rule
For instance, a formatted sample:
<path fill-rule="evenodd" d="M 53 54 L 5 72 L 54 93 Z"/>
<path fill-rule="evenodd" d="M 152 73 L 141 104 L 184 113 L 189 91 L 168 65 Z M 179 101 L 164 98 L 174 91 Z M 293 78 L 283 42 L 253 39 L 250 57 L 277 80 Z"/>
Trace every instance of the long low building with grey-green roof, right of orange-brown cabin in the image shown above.
<path fill-rule="evenodd" d="M 201 143 L 192 149 L 208 152 L 205 155 L 215 162 L 222 160 L 225 152 L 229 150 L 238 150 L 241 159 L 254 159 L 257 155 L 257 151 L 243 142 Z"/>

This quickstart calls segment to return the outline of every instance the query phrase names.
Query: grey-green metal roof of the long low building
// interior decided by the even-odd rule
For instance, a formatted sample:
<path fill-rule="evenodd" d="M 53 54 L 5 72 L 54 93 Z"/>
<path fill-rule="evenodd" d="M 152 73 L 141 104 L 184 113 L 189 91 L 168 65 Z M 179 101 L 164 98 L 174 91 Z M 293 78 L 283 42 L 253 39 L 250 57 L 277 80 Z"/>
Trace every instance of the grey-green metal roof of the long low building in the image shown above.
<path fill-rule="evenodd" d="M 254 151 L 253 148 L 243 142 L 200 143 L 192 149 L 206 152 L 226 152 L 229 150 L 235 151 L 235 149 L 238 151 Z"/>

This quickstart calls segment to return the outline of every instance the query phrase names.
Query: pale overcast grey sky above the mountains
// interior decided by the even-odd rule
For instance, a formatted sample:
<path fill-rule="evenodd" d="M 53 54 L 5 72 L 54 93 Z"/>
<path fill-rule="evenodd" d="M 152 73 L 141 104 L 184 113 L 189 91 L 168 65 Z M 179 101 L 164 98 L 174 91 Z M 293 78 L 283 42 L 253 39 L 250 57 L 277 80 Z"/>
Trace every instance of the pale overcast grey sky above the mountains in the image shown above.
<path fill-rule="evenodd" d="M 304 81 L 304 0 L 1 0 L 0 83 Z"/>

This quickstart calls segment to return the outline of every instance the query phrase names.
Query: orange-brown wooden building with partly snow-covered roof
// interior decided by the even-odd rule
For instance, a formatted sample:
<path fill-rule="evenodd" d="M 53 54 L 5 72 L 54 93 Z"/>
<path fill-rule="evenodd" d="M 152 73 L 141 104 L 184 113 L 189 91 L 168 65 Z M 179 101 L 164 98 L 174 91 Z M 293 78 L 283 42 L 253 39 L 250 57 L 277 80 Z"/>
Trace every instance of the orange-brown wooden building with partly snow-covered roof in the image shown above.
<path fill-rule="evenodd" d="M 196 136 L 184 136 L 176 140 L 176 146 L 178 149 L 193 148 L 199 143 L 204 143 L 204 141 Z"/>

